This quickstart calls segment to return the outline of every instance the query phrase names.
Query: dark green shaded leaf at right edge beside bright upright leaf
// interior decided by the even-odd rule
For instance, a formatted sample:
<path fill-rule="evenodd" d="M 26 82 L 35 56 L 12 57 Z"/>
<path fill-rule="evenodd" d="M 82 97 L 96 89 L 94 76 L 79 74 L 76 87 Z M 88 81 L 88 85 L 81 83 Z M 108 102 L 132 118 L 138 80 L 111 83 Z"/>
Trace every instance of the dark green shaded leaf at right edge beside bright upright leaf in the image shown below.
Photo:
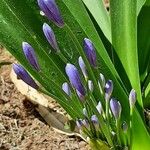
<path fill-rule="evenodd" d="M 138 57 L 141 81 L 148 73 L 150 61 L 150 7 L 144 6 L 138 16 Z"/>

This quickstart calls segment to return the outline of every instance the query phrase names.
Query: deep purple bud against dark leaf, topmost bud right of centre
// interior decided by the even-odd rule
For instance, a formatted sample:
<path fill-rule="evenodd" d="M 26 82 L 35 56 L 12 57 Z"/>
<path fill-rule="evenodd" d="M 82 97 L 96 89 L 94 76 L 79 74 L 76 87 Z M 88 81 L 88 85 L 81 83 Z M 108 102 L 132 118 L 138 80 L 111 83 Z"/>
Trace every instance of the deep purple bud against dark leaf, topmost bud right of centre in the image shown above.
<path fill-rule="evenodd" d="M 93 43 L 85 38 L 84 39 L 84 51 L 85 51 L 85 54 L 90 62 L 90 64 L 93 66 L 93 67 L 96 67 L 96 52 L 95 52 L 95 48 L 94 48 L 94 45 Z"/>

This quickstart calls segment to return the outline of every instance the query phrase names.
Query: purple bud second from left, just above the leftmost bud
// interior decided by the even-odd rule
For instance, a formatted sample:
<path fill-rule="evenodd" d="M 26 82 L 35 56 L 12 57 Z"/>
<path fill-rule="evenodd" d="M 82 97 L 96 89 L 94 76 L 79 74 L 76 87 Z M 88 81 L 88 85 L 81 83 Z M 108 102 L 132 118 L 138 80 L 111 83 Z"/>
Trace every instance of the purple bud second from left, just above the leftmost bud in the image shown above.
<path fill-rule="evenodd" d="M 32 46 L 28 44 L 27 42 L 22 42 L 22 49 L 23 49 L 26 59 L 32 65 L 32 67 L 36 69 L 37 71 L 40 71 L 40 67 L 39 67 L 39 64 L 38 64 L 38 61 L 37 61 L 37 58 L 36 58 L 36 55 Z"/>

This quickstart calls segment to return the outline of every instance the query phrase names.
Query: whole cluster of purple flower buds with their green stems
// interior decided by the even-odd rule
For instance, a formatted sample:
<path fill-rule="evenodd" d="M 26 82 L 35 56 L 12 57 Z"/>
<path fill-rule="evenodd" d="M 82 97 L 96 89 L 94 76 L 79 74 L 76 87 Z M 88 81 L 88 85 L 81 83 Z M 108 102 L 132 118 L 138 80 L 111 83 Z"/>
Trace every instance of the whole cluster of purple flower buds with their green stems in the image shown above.
<path fill-rule="evenodd" d="M 58 27 L 65 26 L 55 0 L 38 0 L 38 5 L 49 20 L 53 21 Z M 43 34 L 54 52 L 61 53 L 53 30 L 46 23 L 43 24 Z M 37 73 L 40 72 L 40 65 L 33 47 L 29 43 L 23 42 L 22 48 L 31 67 Z M 127 137 L 125 136 L 124 141 L 120 138 L 122 133 L 127 133 L 129 122 L 121 121 L 121 104 L 112 97 L 113 81 L 106 81 L 104 75 L 99 72 L 96 49 L 88 38 L 83 41 L 83 51 L 86 57 L 79 56 L 78 67 L 70 63 L 66 64 L 65 72 L 69 80 L 62 84 L 62 91 L 71 101 L 78 103 L 78 106 L 80 106 L 80 108 L 77 108 L 76 105 L 70 106 L 74 106 L 73 109 L 82 112 L 82 116 L 76 116 L 75 118 L 76 125 L 87 137 L 106 141 L 111 147 L 114 146 L 114 143 L 121 146 L 124 142 L 123 144 L 127 145 Z M 99 75 L 96 82 L 90 77 L 87 66 Z M 13 68 L 18 78 L 37 90 L 40 88 L 21 65 L 14 64 Z M 80 70 L 77 68 L 80 68 Z M 101 95 L 101 98 L 97 98 L 99 95 Z M 134 108 L 135 102 L 136 92 L 132 89 L 129 94 L 131 109 Z"/>

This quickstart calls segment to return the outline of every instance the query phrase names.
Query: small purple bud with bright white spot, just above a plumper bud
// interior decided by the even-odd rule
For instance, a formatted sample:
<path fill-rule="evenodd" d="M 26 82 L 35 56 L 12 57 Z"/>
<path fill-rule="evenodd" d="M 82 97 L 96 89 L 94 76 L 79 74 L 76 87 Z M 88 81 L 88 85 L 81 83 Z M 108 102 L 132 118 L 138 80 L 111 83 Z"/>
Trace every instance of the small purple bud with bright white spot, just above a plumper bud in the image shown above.
<path fill-rule="evenodd" d="M 111 80 L 108 80 L 105 85 L 105 99 L 107 101 L 110 99 L 112 92 L 113 92 L 113 82 Z"/>

